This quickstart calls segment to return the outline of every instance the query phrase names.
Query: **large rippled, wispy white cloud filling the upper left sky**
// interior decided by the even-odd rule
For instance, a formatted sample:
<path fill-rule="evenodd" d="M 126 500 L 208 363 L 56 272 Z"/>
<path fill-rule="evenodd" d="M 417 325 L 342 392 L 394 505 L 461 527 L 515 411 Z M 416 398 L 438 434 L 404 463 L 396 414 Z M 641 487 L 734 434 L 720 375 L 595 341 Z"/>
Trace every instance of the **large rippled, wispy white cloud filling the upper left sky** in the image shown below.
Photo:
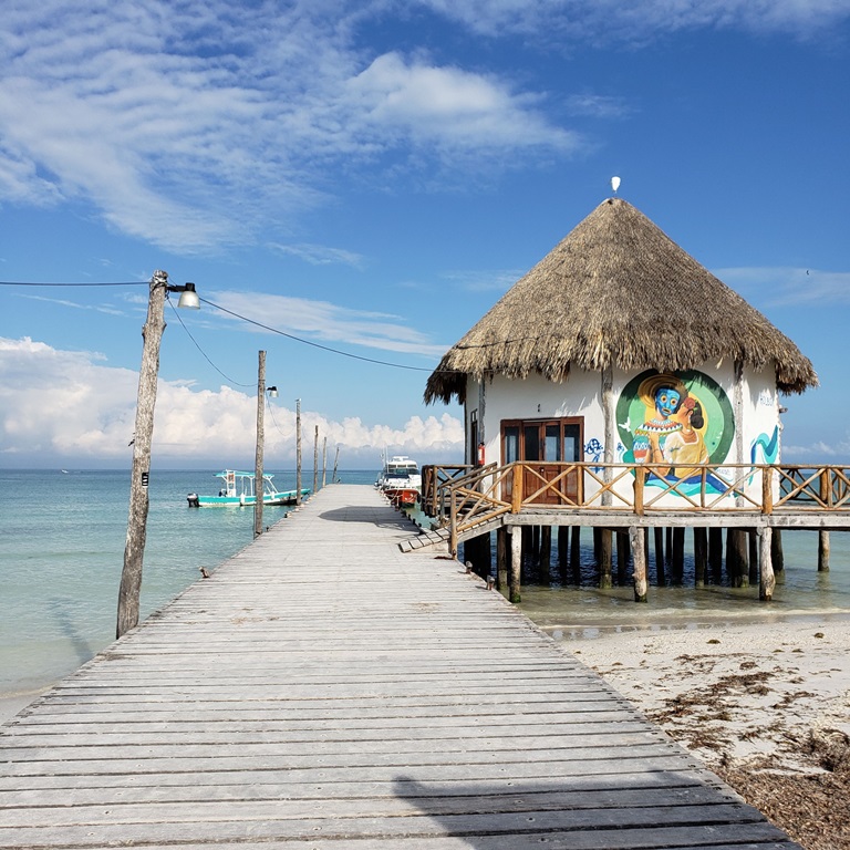
<path fill-rule="evenodd" d="M 81 13 L 69 0 L 10 0 L 7 203 L 83 200 L 118 230 L 187 251 L 250 242 L 269 219 L 322 203 L 331 166 L 356 172 L 397 146 L 438 154 L 440 167 L 449 149 L 569 146 L 533 93 L 370 58 L 352 37 L 370 9 L 94 0 Z"/>

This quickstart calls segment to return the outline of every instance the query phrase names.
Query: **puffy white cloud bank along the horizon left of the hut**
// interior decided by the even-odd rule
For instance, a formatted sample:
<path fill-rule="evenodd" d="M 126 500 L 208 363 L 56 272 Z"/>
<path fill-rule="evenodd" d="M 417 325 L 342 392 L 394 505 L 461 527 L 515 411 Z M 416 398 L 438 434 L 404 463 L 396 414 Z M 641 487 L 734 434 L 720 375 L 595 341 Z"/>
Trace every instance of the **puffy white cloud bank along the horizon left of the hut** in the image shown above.
<path fill-rule="evenodd" d="M 138 375 L 114 369 L 93 352 L 68 352 L 29 338 L 0 338 L 0 463 L 4 466 L 128 466 Z M 296 414 L 270 410 L 266 453 L 278 467 L 294 463 Z M 257 400 L 222 386 L 194 391 L 159 382 L 153 455 L 159 468 L 216 466 L 253 457 Z M 390 446 L 422 463 L 463 457 L 463 423 L 449 414 L 411 417 L 402 427 L 335 422 L 302 411 L 302 434 L 319 425 L 341 447 L 343 468 L 375 465 Z M 307 439 L 307 436 L 304 437 Z"/>

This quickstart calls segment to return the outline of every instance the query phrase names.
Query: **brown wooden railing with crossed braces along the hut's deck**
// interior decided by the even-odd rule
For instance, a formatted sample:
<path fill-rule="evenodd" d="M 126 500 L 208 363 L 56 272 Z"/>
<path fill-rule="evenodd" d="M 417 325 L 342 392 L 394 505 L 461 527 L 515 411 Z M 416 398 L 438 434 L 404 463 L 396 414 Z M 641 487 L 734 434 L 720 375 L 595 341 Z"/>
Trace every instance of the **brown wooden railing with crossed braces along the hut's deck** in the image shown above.
<path fill-rule="evenodd" d="M 703 464 L 688 466 L 686 479 L 672 477 L 668 465 L 652 464 L 517 462 L 423 471 L 428 469 L 435 470 L 424 479 L 432 481 L 431 516 L 449 526 L 455 541 L 476 526 L 522 511 L 850 514 L 848 466 Z"/>

